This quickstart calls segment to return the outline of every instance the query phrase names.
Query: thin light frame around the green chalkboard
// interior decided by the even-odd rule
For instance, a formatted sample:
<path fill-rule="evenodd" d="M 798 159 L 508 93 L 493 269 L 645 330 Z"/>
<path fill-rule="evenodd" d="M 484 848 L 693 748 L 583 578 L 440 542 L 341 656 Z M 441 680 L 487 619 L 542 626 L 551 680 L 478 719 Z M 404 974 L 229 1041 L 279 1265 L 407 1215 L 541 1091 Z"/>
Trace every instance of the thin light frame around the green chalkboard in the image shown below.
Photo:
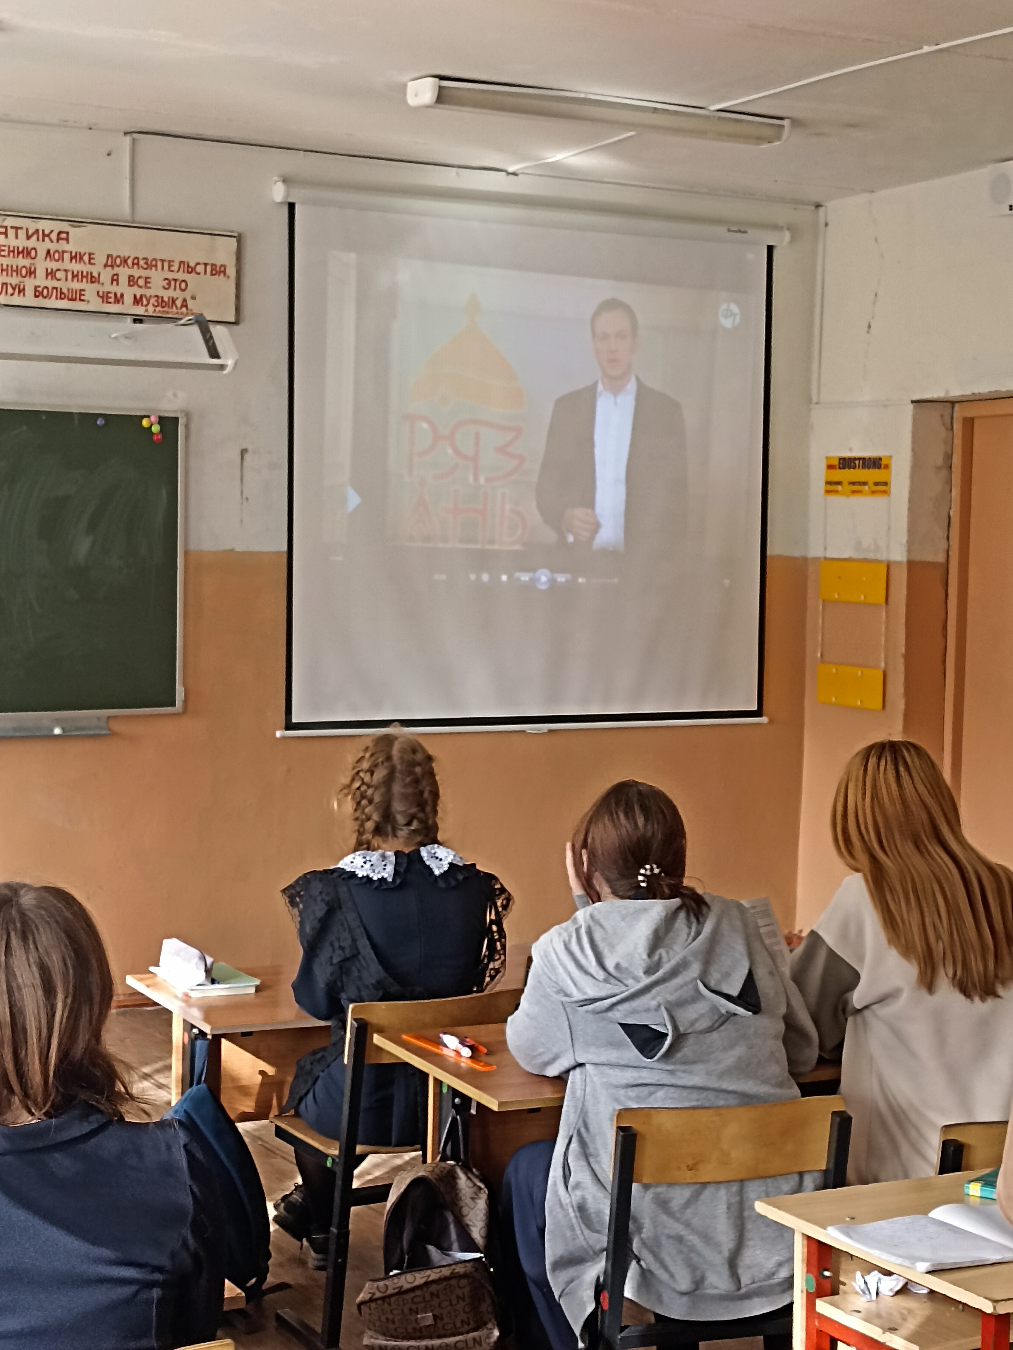
<path fill-rule="evenodd" d="M 86 417 L 147 417 L 151 402 L 124 408 L 123 405 L 81 405 L 80 402 L 39 402 L 31 406 L 24 402 L 0 400 L 0 410 L 23 413 L 80 413 Z M 163 713 L 182 713 L 185 707 L 183 688 L 183 564 L 186 532 L 186 420 L 183 409 L 166 409 L 166 417 L 174 417 L 178 424 L 177 443 L 177 521 L 175 521 L 175 702 L 161 707 L 92 707 L 92 709 L 47 709 L 45 711 L 0 711 L 0 737 L 18 734 L 51 734 L 63 732 L 73 734 L 101 733 L 107 717 L 155 717 Z M 97 725 L 101 722 L 101 728 Z"/>

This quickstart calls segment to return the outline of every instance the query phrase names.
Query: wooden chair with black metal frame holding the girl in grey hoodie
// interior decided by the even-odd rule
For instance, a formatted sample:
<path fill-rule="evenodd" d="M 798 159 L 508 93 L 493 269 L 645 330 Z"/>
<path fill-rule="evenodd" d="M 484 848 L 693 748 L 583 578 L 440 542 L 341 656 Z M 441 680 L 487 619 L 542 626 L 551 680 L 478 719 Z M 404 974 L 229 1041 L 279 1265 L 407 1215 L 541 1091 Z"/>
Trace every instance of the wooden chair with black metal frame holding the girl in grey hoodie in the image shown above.
<path fill-rule="evenodd" d="M 745 1336 L 763 1336 L 765 1350 L 789 1350 L 790 1303 L 754 1318 L 622 1324 L 630 1266 L 633 1187 L 635 1183 L 687 1185 L 751 1181 L 789 1172 L 823 1172 L 824 1189 L 836 1189 L 844 1185 L 850 1142 L 851 1116 L 840 1098 L 800 1098 L 766 1106 L 618 1111 L 606 1262 L 598 1285 L 596 1338 L 592 1335 L 595 1350 L 695 1347 L 701 1341 Z"/>

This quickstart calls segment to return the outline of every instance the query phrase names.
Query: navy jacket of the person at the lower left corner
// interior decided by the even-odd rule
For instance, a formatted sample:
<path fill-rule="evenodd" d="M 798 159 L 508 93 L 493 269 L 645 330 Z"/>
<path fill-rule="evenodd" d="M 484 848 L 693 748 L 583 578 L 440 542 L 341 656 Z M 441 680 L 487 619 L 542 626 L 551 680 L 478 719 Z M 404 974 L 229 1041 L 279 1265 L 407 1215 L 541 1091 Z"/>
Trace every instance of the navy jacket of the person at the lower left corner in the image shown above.
<path fill-rule="evenodd" d="M 178 1120 L 84 1102 L 0 1126 L 0 1347 L 162 1350 L 213 1341 L 225 1216 Z"/>

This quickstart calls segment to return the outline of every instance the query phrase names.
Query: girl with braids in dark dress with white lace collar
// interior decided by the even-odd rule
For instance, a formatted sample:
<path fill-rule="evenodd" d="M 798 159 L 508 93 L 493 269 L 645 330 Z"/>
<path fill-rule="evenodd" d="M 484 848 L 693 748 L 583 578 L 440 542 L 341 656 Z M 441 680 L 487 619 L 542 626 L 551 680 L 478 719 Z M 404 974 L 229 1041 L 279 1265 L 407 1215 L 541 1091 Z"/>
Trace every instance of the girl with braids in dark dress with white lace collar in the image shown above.
<path fill-rule="evenodd" d="M 506 965 L 503 919 L 513 905 L 498 878 L 440 842 L 433 759 L 413 736 L 394 729 L 374 737 L 344 791 L 355 852 L 337 867 L 305 872 L 283 892 L 302 944 L 295 1000 L 332 1026 L 330 1045 L 299 1060 L 286 1110 L 332 1139 L 341 1129 L 349 1006 L 488 988 Z M 360 1141 L 421 1145 L 424 1088 L 410 1065 L 367 1065 Z M 306 1239 L 310 1264 L 322 1269 L 333 1172 L 298 1150 L 295 1160 L 302 1184 L 277 1202 L 275 1222 Z"/>

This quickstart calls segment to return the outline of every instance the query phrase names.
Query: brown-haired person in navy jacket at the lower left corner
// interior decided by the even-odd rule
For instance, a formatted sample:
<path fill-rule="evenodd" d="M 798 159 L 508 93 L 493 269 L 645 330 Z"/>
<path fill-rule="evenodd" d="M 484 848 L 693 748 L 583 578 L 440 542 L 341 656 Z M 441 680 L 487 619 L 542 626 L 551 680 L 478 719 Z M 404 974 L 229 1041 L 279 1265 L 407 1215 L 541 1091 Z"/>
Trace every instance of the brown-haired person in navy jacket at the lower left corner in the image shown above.
<path fill-rule="evenodd" d="M 103 940 L 53 886 L 0 884 L 0 1347 L 213 1341 L 225 1212 L 185 1125 L 124 1120 Z"/>

